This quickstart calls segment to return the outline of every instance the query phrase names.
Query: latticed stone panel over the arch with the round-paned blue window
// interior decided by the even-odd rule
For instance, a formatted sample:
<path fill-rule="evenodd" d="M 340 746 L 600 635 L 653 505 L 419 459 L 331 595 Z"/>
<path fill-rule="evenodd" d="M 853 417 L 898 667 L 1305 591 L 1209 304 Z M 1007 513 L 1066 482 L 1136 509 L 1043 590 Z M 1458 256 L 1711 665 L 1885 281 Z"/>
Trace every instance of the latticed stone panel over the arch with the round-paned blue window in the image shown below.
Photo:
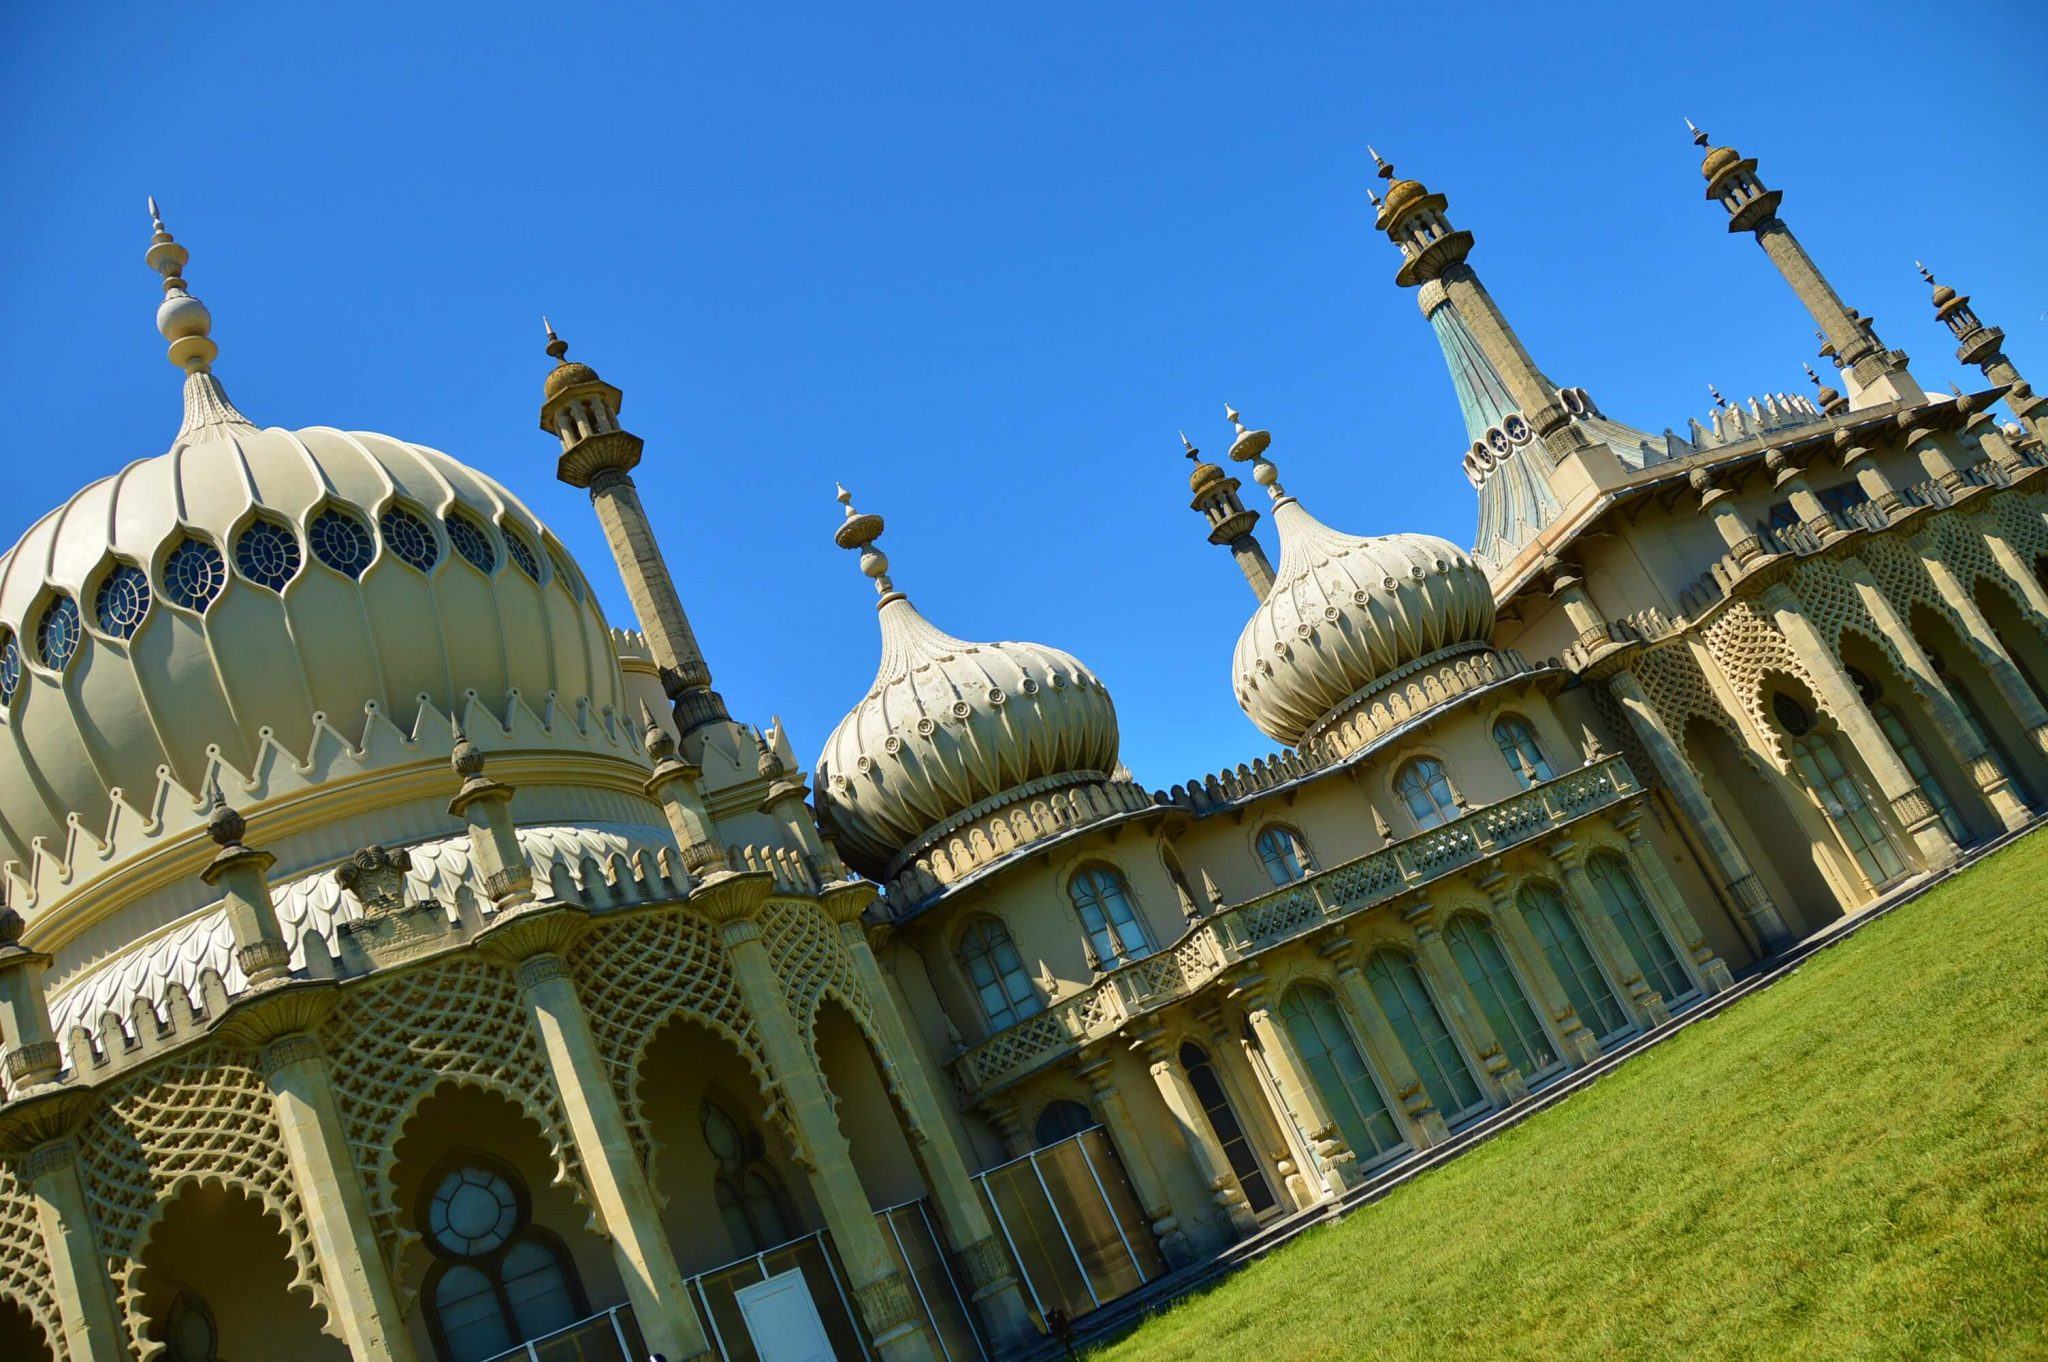
<path fill-rule="evenodd" d="M 406 1120 L 442 1083 L 496 1092 L 541 1126 L 555 1180 L 586 1204 L 582 1167 L 512 977 L 459 954 L 352 987 L 322 1022 L 342 1129 L 393 1272 L 418 1239 L 397 1204 L 393 1165 Z"/>

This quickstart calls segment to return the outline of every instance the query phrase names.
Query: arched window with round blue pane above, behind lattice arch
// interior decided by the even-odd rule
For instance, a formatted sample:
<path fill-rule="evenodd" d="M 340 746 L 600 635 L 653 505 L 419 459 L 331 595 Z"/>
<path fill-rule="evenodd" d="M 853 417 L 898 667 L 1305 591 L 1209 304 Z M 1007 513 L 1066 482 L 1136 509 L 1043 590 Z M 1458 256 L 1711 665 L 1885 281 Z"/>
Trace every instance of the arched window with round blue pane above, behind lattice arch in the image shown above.
<path fill-rule="evenodd" d="M 444 1362 L 483 1362 L 590 1313 L 561 1241 L 532 1225 L 510 1165 L 461 1153 L 428 1180 L 420 1229 L 428 1329 Z"/>

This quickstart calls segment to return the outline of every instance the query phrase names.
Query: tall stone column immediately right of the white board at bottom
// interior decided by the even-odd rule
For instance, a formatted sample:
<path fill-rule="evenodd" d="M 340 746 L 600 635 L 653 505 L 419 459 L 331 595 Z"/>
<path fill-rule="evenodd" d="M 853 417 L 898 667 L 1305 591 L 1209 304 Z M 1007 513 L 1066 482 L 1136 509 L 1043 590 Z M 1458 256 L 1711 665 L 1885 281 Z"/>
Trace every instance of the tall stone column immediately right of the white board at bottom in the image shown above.
<path fill-rule="evenodd" d="M 811 1190 L 825 1212 L 831 1241 L 846 1264 L 860 1317 L 885 1362 L 932 1362 L 932 1339 L 918 1319 L 909 1282 L 897 1270 L 874 1225 L 868 1194 L 854 1172 L 854 1155 L 834 1112 L 831 1090 L 817 1067 L 803 1028 L 782 997 L 758 916 L 768 901 L 768 875 L 723 875 L 690 895 L 725 942 L 739 999 L 754 1020 L 754 1034 L 768 1057 L 776 1100 L 797 1141 L 797 1157 L 811 1169 Z"/>

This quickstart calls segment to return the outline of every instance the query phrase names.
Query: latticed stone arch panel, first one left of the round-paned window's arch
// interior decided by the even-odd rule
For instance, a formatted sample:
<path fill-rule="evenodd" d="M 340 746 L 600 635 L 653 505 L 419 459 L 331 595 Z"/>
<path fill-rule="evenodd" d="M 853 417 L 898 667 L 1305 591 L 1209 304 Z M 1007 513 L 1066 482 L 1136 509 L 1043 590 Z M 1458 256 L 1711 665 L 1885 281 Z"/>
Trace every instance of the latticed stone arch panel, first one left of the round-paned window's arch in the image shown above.
<path fill-rule="evenodd" d="M 236 1051 L 188 1051 L 111 1086 L 78 1133 L 78 1161 L 137 1358 L 164 1348 L 143 1337 L 143 1247 L 186 1184 L 225 1186 L 262 1206 L 291 1245 L 293 1290 L 328 1309 L 270 1092 Z"/>

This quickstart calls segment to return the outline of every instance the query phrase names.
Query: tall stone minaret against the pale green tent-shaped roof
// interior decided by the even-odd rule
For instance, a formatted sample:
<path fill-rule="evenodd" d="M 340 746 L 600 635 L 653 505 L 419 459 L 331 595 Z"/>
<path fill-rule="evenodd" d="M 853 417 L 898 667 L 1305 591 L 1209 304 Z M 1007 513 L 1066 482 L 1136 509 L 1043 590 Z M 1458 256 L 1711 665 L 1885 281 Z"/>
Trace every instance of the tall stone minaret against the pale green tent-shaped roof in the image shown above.
<path fill-rule="evenodd" d="M 1378 166 L 1380 178 L 1386 180 L 1386 199 L 1374 199 L 1378 217 L 1372 225 L 1401 250 L 1395 283 L 1403 289 L 1423 291 L 1425 317 L 1442 305 L 1458 309 L 1522 418 L 1550 451 L 1552 463 L 1563 463 L 1573 455 L 1597 457 L 1599 446 L 1573 424 L 1556 387 L 1530 358 L 1516 330 L 1507 326 L 1507 315 L 1479 283 L 1479 272 L 1466 264 L 1466 256 L 1473 252 L 1473 233 L 1450 225 L 1444 215 L 1448 199 L 1432 195 L 1419 180 L 1397 180 L 1391 162 L 1372 147 L 1366 152 Z M 1608 463 L 1612 463 L 1612 455 Z M 1620 467 L 1616 465 L 1612 473 L 1620 475 Z"/>

